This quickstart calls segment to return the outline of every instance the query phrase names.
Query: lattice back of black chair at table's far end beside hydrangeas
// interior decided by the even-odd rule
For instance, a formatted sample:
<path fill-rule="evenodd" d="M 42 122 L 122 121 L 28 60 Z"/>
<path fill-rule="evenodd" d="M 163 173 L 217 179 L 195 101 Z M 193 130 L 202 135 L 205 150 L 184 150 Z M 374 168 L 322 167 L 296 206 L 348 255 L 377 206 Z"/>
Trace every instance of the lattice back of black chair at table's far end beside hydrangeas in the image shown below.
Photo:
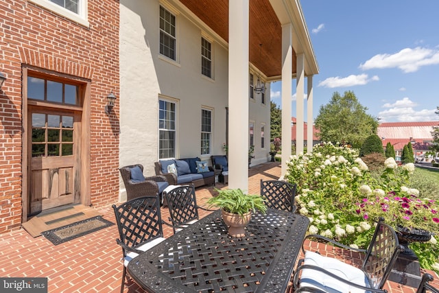
<path fill-rule="evenodd" d="M 261 195 L 265 197 L 265 205 L 282 211 L 294 211 L 294 196 L 296 184 L 278 180 L 261 179 Z"/>

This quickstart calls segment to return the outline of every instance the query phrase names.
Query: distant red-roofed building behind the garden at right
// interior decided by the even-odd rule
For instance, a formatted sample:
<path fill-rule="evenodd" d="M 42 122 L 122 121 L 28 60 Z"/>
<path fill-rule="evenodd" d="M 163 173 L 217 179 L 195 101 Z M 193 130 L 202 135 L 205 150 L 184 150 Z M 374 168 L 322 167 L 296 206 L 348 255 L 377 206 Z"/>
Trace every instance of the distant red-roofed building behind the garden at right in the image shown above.
<path fill-rule="evenodd" d="M 378 126 L 377 134 L 381 137 L 383 148 L 390 142 L 396 154 L 396 160 L 401 158 L 404 145 L 412 143 L 415 158 L 423 157 L 428 147 L 433 143 L 431 131 L 439 126 L 439 121 L 426 122 L 385 122 Z"/>

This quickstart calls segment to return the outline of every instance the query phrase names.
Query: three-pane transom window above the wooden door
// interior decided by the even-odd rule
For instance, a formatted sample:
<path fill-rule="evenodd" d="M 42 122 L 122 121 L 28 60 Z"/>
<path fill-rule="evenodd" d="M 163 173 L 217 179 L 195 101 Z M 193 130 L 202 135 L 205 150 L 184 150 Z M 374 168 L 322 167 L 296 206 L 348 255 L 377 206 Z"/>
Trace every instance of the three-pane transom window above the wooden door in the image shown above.
<path fill-rule="evenodd" d="M 27 98 L 45 102 L 79 105 L 78 86 L 43 78 L 27 77 Z"/>

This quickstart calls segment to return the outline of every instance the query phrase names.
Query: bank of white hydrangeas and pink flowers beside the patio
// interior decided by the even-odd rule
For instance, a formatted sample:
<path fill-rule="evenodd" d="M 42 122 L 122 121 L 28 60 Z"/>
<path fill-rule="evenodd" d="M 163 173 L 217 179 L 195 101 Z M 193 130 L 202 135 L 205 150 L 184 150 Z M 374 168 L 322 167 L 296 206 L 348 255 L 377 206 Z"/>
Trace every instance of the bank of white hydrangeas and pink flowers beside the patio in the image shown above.
<path fill-rule="evenodd" d="M 418 198 L 418 191 L 407 187 L 413 164 L 399 167 L 387 159 L 383 174 L 376 178 L 358 155 L 358 150 L 322 143 L 311 154 L 294 155 L 287 162 L 285 179 L 297 184 L 298 213 L 309 218 L 309 233 L 366 248 L 379 217 L 394 228 L 423 227 L 439 233 L 437 203 Z M 429 248 L 420 250 L 425 247 Z M 434 237 L 416 248 L 423 268 L 439 268 Z"/>

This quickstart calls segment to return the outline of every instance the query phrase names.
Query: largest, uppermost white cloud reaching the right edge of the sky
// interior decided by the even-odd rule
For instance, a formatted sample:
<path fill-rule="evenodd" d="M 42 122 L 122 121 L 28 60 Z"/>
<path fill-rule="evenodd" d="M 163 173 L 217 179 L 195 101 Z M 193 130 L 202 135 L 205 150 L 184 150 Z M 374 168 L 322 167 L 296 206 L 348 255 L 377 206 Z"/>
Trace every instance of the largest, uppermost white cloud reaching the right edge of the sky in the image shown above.
<path fill-rule="evenodd" d="M 439 49 L 405 48 L 395 54 L 377 54 L 359 65 L 360 69 L 399 68 L 404 73 L 415 72 L 420 67 L 439 64 Z"/>

